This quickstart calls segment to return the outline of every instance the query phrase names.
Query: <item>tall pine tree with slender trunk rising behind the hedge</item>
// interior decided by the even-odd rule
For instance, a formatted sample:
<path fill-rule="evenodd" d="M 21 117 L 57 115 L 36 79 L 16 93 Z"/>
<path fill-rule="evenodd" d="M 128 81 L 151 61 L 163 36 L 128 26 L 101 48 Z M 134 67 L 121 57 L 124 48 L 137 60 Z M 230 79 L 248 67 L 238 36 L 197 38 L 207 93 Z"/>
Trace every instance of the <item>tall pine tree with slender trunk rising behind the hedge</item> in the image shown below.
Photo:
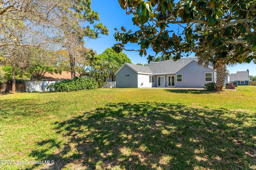
<path fill-rule="evenodd" d="M 73 5 L 68 10 L 61 11 L 63 20 L 60 20 L 60 27 L 63 31 L 63 43 L 69 55 L 71 77 L 75 78 L 76 58 L 80 56 L 79 50 L 84 45 L 84 38 L 96 39 L 100 34 L 108 35 L 108 29 L 99 21 L 99 14 L 91 9 L 90 0 L 72 1 Z M 68 18 L 67 18 L 68 17 Z M 93 29 L 88 26 L 93 25 Z"/>

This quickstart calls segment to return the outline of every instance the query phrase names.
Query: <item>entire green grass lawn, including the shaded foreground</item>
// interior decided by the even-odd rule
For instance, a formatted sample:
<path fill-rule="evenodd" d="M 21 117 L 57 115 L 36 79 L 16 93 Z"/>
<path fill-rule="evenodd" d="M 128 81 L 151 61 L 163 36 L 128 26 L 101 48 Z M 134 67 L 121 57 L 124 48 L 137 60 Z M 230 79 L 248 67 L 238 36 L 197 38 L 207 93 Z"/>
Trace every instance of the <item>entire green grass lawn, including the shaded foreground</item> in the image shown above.
<path fill-rule="evenodd" d="M 256 86 L 236 89 L 2 95 L 0 169 L 256 170 Z"/>

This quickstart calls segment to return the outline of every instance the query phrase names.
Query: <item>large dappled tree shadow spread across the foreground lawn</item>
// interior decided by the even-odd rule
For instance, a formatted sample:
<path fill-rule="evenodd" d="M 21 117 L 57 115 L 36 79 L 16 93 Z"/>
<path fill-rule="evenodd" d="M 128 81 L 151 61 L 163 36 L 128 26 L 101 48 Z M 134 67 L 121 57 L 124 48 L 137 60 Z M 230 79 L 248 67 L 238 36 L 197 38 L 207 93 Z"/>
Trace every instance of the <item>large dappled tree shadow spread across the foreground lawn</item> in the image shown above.
<path fill-rule="evenodd" d="M 48 147 L 30 156 L 54 160 L 45 169 L 250 169 L 255 126 L 244 128 L 244 120 L 228 115 L 164 103 L 108 104 L 56 122 L 65 145 L 41 141 Z"/>

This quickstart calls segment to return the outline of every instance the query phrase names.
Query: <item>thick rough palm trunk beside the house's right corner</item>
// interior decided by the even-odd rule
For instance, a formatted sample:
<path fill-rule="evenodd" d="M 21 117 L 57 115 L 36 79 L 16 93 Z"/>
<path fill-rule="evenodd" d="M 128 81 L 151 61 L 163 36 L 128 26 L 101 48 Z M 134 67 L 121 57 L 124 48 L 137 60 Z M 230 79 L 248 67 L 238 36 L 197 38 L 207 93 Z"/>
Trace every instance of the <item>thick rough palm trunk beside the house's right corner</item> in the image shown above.
<path fill-rule="evenodd" d="M 217 85 L 217 91 L 222 91 L 224 82 L 225 82 L 225 74 L 226 74 L 226 64 L 222 63 L 217 63 L 216 64 L 216 72 L 217 72 L 217 77 L 216 77 L 216 85 Z"/>

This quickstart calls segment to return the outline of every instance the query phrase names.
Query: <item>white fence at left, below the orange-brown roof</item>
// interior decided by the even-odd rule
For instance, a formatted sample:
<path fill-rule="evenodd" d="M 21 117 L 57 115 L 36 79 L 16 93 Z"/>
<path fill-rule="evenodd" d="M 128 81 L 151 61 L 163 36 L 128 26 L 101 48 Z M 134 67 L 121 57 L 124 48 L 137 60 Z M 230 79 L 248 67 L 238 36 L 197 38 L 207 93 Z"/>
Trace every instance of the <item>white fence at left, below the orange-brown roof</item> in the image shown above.
<path fill-rule="evenodd" d="M 26 92 L 46 92 L 46 87 L 56 81 L 28 81 L 26 82 Z"/>

